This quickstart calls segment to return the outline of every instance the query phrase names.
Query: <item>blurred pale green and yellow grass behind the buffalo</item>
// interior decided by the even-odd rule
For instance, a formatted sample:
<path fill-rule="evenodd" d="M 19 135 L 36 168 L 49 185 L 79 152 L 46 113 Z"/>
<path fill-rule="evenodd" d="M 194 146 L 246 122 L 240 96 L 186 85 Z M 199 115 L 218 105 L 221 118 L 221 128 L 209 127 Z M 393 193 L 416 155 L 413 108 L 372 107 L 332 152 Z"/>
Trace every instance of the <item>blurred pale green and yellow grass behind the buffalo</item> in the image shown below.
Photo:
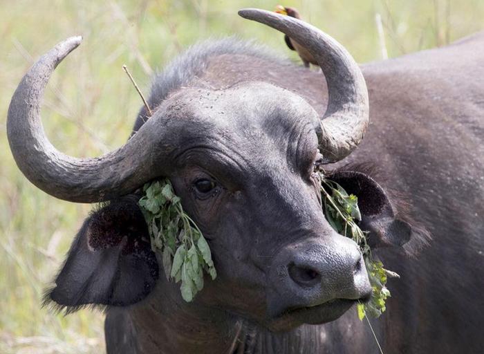
<path fill-rule="evenodd" d="M 279 1 L 8 1 L 0 0 L 0 353 L 104 352 L 102 314 L 63 317 L 40 307 L 90 205 L 47 196 L 18 171 L 6 140 L 10 97 L 32 60 L 71 35 L 82 46 L 50 80 L 42 109 L 53 144 L 74 156 L 119 147 L 140 107 L 122 71 L 142 90 L 149 77 L 198 39 L 236 34 L 279 50 L 282 35 L 236 15 L 243 7 L 273 10 Z M 445 45 L 484 28 L 482 0 L 287 1 L 342 42 L 358 62 Z M 380 17 L 379 37 L 376 17 Z"/>

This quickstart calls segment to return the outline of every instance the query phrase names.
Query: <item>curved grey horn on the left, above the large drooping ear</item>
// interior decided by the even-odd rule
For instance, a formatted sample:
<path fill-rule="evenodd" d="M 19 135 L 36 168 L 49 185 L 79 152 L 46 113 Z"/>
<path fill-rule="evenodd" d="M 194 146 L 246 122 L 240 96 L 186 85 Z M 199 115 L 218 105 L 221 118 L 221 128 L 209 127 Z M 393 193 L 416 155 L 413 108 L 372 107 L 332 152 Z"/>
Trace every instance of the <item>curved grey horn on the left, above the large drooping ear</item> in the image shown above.
<path fill-rule="evenodd" d="M 57 44 L 29 69 L 10 102 L 7 134 L 15 162 L 30 182 L 57 198 L 93 203 L 133 192 L 159 176 L 163 161 L 153 158 L 148 142 L 162 136 L 150 120 L 145 126 L 151 127 L 142 127 L 125 145 L 99 158 L 74 158 L 53 147 L 41 123 L 40 102 L 57 64 L 81 40 L 71 37 Z"/>

